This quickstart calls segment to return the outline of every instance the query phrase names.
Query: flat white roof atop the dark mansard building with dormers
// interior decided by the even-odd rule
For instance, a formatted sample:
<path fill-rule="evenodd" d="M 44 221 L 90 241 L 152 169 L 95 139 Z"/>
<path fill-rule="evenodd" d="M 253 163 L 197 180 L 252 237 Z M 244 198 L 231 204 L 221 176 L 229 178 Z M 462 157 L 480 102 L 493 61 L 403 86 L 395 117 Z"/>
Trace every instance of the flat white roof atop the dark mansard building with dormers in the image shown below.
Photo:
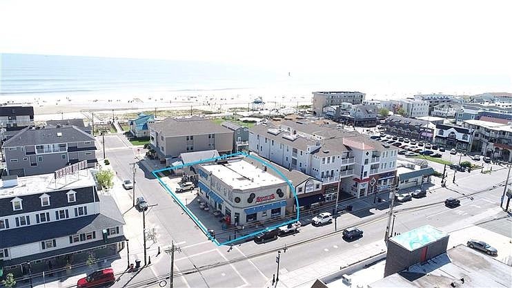
<path fill-rule="evenodd" d="M 18 184 L 11 187 L 3 187 L 3 181 L 0 180 L 0 198 L 77 189 L 95 186 L 95 184 L 94 177 L 88 169 L 81 170 L 76 175 L 68 175 L 66 179 L 62 177 L 57 180 L 57 184 L 55 184 L 53 173 L 18 177 Z"/>

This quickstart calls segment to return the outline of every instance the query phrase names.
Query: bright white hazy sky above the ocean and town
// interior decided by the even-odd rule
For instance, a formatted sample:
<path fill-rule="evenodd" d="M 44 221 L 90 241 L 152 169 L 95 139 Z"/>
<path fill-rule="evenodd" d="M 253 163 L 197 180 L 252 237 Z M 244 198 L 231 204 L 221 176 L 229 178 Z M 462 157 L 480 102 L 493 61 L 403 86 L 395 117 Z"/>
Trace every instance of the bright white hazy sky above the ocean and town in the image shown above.
<path fill-rule="evenodd" d="M 484 75 L 512 92 L 511 11 L 512 1 L 0 0 L 0 52 Z"/>

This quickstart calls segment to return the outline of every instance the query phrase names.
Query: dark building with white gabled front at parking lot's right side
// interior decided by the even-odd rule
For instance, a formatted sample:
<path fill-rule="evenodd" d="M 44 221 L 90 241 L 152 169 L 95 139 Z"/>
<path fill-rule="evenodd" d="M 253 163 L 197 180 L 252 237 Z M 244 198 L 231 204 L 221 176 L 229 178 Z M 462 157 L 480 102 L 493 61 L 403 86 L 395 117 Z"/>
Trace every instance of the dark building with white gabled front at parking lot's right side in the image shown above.
<path fill-rule="evenodd" d="M 444 148 L 470 151 L 473 131 L 460 126 L 437 124 L 434 143 Z"/>

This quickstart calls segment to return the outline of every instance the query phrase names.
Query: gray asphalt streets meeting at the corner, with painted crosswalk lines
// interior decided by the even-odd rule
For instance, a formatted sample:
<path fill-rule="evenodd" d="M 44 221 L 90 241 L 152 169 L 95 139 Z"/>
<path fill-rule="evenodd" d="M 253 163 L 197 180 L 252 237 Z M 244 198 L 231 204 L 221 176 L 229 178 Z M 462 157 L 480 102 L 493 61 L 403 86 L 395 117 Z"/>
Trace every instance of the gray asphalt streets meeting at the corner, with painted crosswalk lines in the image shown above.
<path fill-rule="evenodd" d="M 105 137 L 106 155 L 119 178 L 131 179 L 132 171 L 129 163 L 135 160 L 134 149 L 126 146 L 120 137 L 124 136 L 108 135 Z M 436 170 L 438 169 L 436 168 Z M 397 204 L 394 231 L 408 231 L 424 224 L 431 224 L 442 229 L 449 224 L 466 220 L 471 215 L 477 215 L 499 205 L 500 195 L 503 191 L 502 186 L 471 197 L 464 197 L 463 194 L 474 193 L 492 186 L 493 183 L 502 182 L 506 177 L 505 169 L 490 174 L 473 171 L 459 175 L 460 173 L 457 173 L 456 184 L 451 184 L 450 181 L 447 189 L 437 189 L 429 193 L 426 198 Z M 187 274 L 175 278 L 175 287 L 263 287 L 269 279 L 272 279 L 273 273 L 276 271 L 275 250 L 282 249 L 285 244 L 288 249 L 286 253 L 282 253 L 281 273 L 310 265 L 327 256 L 346 253 L 346 251 L 357 249 L 364 244 L 382 240 L 386 229 L 386 219 L 383 216 L 387 207 L 386 204 L 382 204 L 378 209 L 354 211 L 337 219 L 336 227 L 341 230 L 362 221 L 378 218 L 375 222 L 358 225 L 364 230 L 364 237 L 353 242 L 346 242 L 339 233 L 322 238 L 321 236 L 335 230 L 334 224 L 327 224 L 324 227 L 306 225 L 295 235 L 278 238 L 265 244 L 246 242 L 234 247 L 217 247 L 195 227 L 188 215 L 181 211 L 157 180 L 152 178 L 150 171 L 145 171 L 137 165 L 135 180 L 137 182 L 135 197 L 144 195 L 149 204 L 158 204 L 146 215 L 146 225 L 157 229 L 159 245 L 167 247 L 173 240 L 181 247 L 181 251 L 175 254 L 175 272 L 186 271 Z M 435 204 L 448 197 L 463 197 L 461 206 L 448 209 L 444 207 L 444 204 Z M 426 204 L 432 205 L 421 210 L 402 211 L 402 209 Z M 489 228 L 492 228 L 492 225 Z M 503 233 L 504 229 L 501 229 L 502 232 L 499 230 L 498 233 Z M 296 242 L 309 239 L 316 240 L 294 246 Z M 254 255 L 257 256 L 253 257 Z M 250 259 L 245 258 L 246 256 Z M 242 260 L 234 264 L 204 269 L 209 265 L 240 258 Z M 165 275 L 169 268 L 167 256 L 157 258 L 151 267 L 153 277 Z M 135 287 L 140 285 L 139 282 L 143 280 L 137 278 L 125 287 Z M 148 278 L 148 280 L 150 279 Z"/>

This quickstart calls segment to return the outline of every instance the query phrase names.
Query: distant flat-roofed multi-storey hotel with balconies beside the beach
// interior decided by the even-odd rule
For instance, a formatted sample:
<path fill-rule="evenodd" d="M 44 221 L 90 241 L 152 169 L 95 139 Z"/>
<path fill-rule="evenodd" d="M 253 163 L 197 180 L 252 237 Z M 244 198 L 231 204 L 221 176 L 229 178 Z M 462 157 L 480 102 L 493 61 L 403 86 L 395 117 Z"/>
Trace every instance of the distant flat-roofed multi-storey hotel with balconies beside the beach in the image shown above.
<path fill-rule="evenodd" d="M 322 115 L 325 106 L 342 103 L 362 104 L 366 94 L 357 91 L 322 91 L 313 92 L 313 113 Z"/>

